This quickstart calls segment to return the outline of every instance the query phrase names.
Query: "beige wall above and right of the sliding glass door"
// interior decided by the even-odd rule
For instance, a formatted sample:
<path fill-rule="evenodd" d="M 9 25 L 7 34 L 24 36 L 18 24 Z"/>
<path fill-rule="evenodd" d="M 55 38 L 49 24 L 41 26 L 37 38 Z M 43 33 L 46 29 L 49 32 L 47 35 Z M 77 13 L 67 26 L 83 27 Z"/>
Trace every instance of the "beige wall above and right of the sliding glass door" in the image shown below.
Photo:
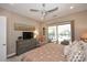
<path fill-rule="evenodd" d="M 47 25 L 58 24 L 58 22 L 75 21 L 75 39 L 79 40 L 83 32 L 87 31 L 87 11 L 69 14 L 62 18 L 56 18 L 48 21 Z"/>

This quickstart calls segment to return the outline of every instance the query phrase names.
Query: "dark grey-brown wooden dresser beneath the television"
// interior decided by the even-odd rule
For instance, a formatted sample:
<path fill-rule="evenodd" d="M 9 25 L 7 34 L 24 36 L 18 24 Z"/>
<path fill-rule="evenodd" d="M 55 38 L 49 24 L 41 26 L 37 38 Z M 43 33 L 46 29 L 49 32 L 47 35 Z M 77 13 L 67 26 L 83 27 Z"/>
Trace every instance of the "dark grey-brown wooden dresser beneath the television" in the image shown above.
<path fill-rule="evenodd" d="M 40 45 L 39 41 L 36 39 L 30 39 L 30 40 L 18 40 L 17 41 L 17 55 L 20 55 L 22 53 L 25 53 L 30 50 L 33 50 Z"/>

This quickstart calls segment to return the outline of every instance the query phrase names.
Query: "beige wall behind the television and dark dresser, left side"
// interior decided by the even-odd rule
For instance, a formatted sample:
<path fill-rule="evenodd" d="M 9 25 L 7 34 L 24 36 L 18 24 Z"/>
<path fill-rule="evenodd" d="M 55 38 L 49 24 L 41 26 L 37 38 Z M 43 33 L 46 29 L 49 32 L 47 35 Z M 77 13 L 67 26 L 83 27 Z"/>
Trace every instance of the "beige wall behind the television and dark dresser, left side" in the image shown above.
<path fill-rule="evenodd" d="M 22 35 L 22 31 L 14 31 L 14 23 L 23 23 L 28 25 L 34 25 L 39 30 L 39 23 L 32 19 L 22 17 L 20 14 L 7 11 L 4 9 L 0 9 L 0 15 L 7 17 L 7 22 L 8 22 L 8 43 L 7 43 L 7 50 L 8 50 L 8 55 L 15 53 L 15 41 L 18 36 Z"/>

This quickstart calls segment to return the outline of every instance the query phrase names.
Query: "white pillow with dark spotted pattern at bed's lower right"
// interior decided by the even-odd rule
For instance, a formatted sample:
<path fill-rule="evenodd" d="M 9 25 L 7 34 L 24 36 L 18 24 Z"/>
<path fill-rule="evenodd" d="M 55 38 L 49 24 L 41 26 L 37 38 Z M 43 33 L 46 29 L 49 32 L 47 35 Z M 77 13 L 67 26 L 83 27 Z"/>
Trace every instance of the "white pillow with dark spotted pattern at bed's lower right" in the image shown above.
<path fill-rule="evenodd" d="M 70 46 L 70 51 L 68 54 L 69 62 L 84 62 L 85 61 L 85 52 L 81 47 L 83 45 L 80 45 L 79 42 Z"/>

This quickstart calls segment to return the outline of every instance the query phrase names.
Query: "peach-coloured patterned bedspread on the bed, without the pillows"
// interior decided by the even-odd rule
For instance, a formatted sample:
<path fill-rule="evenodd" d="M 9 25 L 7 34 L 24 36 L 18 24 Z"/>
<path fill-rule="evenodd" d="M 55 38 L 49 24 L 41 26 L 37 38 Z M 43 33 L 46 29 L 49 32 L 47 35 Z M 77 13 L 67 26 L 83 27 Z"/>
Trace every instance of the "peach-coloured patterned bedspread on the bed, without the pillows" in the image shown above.
<path fill-rule="evenodd" d="M 23 62 L 64 62 L 64 46 L 61 44 L 47 43 L 23 54 Z"/>

